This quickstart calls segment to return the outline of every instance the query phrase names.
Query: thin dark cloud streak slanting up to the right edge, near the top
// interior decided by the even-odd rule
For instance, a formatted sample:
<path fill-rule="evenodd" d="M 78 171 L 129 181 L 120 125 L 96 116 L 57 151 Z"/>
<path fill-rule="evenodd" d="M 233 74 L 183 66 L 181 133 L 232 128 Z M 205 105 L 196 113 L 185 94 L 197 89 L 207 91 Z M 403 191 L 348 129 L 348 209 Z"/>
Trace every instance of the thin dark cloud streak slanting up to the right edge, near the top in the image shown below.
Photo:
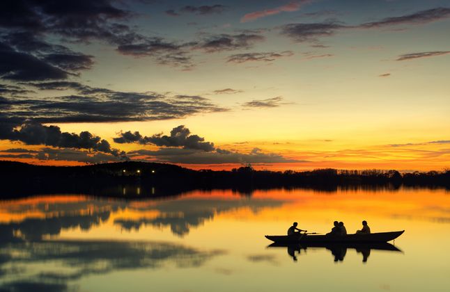
<path fill-rule="evenodd" d="M 421 10 L 417 13 L 403 15 L 398 17 L 387 17 L 378 22 L 366 22 L 360 24 L 359 27 L 363 29 L 372 29 L 384 26 L 394 26 L 398 24 L 426 24 L 428 22 L 435 22 L 440 19 L 450 17 L 450 8 L 433 8 L 428 10 Z"/>

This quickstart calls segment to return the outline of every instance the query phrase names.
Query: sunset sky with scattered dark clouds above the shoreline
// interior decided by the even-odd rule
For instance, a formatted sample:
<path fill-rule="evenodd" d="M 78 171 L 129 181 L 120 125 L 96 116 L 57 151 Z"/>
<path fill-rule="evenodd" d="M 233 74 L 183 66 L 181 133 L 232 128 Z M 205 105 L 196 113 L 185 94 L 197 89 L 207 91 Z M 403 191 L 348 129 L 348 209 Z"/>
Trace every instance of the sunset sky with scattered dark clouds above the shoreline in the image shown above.
<path fill-rule="evenodd" d="M 450 1 L 0 3 L 0 159 L 450 167 Z"/>

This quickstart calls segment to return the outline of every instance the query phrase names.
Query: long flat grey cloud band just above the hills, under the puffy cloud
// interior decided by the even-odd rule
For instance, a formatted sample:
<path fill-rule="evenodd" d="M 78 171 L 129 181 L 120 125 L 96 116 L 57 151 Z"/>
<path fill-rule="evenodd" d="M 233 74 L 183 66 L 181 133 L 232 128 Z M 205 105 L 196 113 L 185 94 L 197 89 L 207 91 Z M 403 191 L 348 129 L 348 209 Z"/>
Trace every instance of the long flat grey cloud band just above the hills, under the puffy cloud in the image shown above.
<path fill-rule="evenodd" d="M 162 148 L 159 150 L 137 150 L 128 152 L 129 156 L 148 156 L 149 159 L 168 163 L 186 164 L 222 164 L 222 163 L 292 163 L 304 162 L 296 159 L 286 159 L 274 153 L 263 153 L 258 149 L 245 153 L 231 152 L 225 149 L 216 149 L 213 152 L 204 152 L 194 149 Z"/>

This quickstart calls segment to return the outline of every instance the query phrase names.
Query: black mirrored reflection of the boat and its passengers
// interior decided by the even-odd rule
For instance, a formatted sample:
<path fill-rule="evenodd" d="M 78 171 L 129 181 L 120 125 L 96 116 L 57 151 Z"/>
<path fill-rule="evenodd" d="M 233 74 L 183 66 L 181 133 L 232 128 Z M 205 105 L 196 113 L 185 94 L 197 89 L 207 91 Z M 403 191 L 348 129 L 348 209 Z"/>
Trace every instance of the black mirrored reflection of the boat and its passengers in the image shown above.
<path fill-rule="evenodd" d="M 343 261 L 347 250 L 353 249 L 362 254 L 362 262 L 365 263 L 371 254 L 371 250 L 385 250 L 389 252 L 402 252 L 390 243 L 272 243 L 267 248 L 286 248 L 293 261 L 297 261 L 300 254 L 306 254 L 308 249 L 325 249 L 332 253 L 334 262 Z"/>

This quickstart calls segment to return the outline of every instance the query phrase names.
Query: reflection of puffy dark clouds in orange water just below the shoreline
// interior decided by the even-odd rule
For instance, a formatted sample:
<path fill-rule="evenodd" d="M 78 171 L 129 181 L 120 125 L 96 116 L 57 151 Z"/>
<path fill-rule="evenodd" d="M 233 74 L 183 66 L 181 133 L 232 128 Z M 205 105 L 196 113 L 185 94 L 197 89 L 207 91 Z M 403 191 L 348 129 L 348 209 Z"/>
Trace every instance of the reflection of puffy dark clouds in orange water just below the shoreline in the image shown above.
<path fill-rule="evenodd" d="M 44 201 L 47 198 L 42 198 Z M 49 199 L 51 200 L 51 198 Z M 170 227 L 177 236 L 185 236 L 192 227 L 199 227 L 205 220 L 212 220 L 221 213 L 249 209 L 257 213 L 264 208 L 281 206 L 284 200 L 226 200 L 184 198 L 180 200 L 95 200 L 85 197 L 80 202 L 38 202 L 36 204 L 12 204 L 4 212 L 25 215 L 19 222 L 0 223 L 0 243 L 12 241 L 40 241 L 45 236 L 56 236 L 61 231 L 79 228 L 87 231 L 106 222 L 116 214 L 114 224 L 127 231 L 142 226 Z M 134 212 L 132 218 L 117 215 L 119 211 Z M 43 218 L 26 216 L 38 213 Z M 156 214 L 156 215 L 155 215 Z"/>

